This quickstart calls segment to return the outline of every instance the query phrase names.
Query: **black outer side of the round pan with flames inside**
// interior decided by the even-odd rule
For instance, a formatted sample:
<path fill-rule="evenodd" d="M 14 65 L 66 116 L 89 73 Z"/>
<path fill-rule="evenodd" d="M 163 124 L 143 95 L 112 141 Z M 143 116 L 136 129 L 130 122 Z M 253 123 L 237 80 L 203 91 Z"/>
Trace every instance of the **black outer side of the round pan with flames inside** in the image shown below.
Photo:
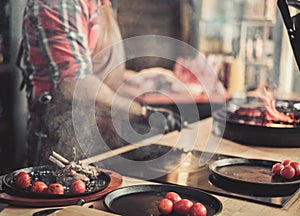
<path fill-rule="evenodd" d="M 279 111 L 294 111 L 295 101 L 277 101 Z M 285 107 L 286 106 L 286 107 Z M 259 124 L 246 124 L 232 121 L 226 108 L 222 108 L 212 114 L 213 133 L 225 139 L 246 145 L 267 147 L 300 147 L 300 127 L 279 128 L 266 127 Z"/>

